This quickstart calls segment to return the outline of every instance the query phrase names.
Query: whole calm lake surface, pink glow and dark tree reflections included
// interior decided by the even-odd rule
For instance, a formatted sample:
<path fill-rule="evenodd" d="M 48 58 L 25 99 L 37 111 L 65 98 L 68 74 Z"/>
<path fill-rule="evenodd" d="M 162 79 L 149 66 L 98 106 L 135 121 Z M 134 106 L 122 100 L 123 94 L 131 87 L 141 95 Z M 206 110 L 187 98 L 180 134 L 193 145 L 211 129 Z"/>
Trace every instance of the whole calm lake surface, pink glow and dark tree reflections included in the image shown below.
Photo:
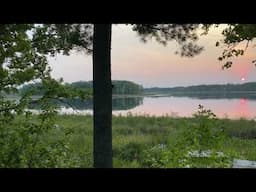
<path fill-rule="evenodd" d="M 170 115 L 190 117 L 198 109 L 198 105 L 211 109 L 218 117 L 224 118 L 256 118 L 256 100 L 240 99 L 213 99 L 189 97 L 132 97 L 113 99 L 113 114 L 126 115 Z M 77 106 L 77 107 L 76 107 Z M 73 108 L 68 106 L 60 109 L 61 114 L 92 114 L 92 103 L 83 105 L 76 103 Z"/>

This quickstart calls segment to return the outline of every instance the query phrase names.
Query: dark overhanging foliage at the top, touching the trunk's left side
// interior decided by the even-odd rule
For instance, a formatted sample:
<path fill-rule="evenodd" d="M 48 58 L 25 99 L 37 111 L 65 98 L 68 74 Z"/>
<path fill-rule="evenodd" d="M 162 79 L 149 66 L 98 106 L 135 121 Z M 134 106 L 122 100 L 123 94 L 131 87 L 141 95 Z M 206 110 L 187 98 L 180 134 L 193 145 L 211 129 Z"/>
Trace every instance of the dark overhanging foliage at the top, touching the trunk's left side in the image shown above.
<path fill-rule="evenodd" d="M 43 54 L 92 53 L 92 24 L 43 24 L 34 29 L 33 46 Z"/>

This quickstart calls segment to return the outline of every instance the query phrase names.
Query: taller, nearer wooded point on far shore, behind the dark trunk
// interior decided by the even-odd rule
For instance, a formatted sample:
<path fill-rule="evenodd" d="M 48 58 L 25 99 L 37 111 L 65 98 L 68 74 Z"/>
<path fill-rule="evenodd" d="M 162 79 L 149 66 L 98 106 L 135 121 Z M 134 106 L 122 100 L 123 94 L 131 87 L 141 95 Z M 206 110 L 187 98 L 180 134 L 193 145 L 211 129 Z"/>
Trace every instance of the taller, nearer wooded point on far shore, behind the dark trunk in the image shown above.
<path fill-rule="evenodd" d="M 65 83 L 65 87 L 69 89 L 78 89 L 82 91 L 92 91 L 92 81 L 77 81 L 73 83 Z M 112 81 L 113 94 L 142 94 L 143 86 L 131 81 Z M 43 95 L 44 90 L 40 82 L 24 85 L 19 89 L 20 94 L 33 90 L 33 95 Z"/>

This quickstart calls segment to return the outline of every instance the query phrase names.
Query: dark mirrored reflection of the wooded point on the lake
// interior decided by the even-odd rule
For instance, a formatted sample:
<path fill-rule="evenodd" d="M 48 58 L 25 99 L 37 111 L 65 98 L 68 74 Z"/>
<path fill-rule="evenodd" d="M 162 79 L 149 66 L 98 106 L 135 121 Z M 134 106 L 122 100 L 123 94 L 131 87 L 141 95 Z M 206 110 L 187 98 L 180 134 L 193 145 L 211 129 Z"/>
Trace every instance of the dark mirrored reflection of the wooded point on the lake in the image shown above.
<path fill-rule="evenodd" d="M 52 100 L 53 104 L 57 104 L 59 107 L 72 107 L 75 110 L 92 110 L 93 100 L 83 101 L 81 99 L 62 99 Z M 119 97 L 112 99 L 112 109 L 114 110 L 128 110 L 136 106 L 143 104 L 143 97 Z M 30 109 L 40 109 L 40 105 L 37 100 L 33 100 L 30 105 Z"/>

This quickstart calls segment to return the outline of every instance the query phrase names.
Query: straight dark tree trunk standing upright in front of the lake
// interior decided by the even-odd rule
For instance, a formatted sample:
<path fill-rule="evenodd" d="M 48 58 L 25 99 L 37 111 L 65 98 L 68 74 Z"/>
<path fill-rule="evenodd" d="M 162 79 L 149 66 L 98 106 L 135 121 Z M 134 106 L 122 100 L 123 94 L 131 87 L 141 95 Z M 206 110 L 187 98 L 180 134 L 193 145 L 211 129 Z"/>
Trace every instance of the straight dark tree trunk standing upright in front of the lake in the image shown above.
<path fill-rule="evenodd" d="M 93 157 L 95 168 L 111 168 L 112 85 L 111 24 L 94 24 L 93 33 Z"/>

